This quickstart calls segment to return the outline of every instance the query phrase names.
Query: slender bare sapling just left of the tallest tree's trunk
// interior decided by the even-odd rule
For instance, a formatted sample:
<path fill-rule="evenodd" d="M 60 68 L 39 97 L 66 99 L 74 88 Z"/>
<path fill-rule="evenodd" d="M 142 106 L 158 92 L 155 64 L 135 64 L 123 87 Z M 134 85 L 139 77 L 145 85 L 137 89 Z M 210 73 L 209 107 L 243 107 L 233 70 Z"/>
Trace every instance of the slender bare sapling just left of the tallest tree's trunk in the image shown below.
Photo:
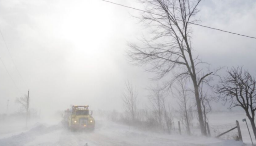
<path fill-rule="evenodd" d="M 191 122 L 193 121 L 193 111 L 192 111 L 192 105 L 189 102 L 189 90 L 187 87 L 187 78 L 178 77 L 176 80 L 176 86 L 174 86 L 174 89 L 176 90 L 173 92 L 173 95 L 179 99 L 179 117 L 180 121 L 186 126 L 187 133 L 190 135 L 190 126 Z"/>

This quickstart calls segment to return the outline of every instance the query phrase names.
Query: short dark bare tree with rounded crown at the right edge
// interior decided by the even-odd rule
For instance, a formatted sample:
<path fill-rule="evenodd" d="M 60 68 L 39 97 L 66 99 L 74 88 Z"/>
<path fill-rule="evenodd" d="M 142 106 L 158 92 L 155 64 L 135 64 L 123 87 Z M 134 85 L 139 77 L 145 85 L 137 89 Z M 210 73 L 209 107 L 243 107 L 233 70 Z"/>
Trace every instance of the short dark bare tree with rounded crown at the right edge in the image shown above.
<path fill-rule="evenodd" d="M 256 110 L 256 80 L 242 67 L 232 68 L 217 86 L 219 99 L 230 103 L 229 109 L 242 107 L 249 118 L 256 139 L 256 127 L 254 123 Z"/>

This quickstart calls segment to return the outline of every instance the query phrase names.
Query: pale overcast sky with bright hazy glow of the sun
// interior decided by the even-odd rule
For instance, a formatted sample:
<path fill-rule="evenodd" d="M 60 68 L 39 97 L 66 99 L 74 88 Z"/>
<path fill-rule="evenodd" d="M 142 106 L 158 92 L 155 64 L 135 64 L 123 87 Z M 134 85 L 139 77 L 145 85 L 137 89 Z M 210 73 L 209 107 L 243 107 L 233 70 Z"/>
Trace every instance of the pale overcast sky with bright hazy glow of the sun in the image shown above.
<path fill-rule="evenodd" d="M 112 1 L 143 8 L 136 0 Z M 254 0 L 203 0 L 199 10 L 199 24 L 256 37 Z M 0 113 L 8 99 L 9 112 L 17 111 L 15 98 L 28 88 L 31 108 L 42 113 L 70 105 L 119 110 L 126 80 L 143 106 L 152 74 L 129 65 L 125 51 L 147 30 L 131 14 L 138 12 L 100 0 L 1 0 L 0 29 L 25 83 L 0 36 L 0 57 L 17 86 L 0 62 Z M 194 55 L 211 68 L 243 65 L 255 75 L 255 39 L 192 27 Z"/>

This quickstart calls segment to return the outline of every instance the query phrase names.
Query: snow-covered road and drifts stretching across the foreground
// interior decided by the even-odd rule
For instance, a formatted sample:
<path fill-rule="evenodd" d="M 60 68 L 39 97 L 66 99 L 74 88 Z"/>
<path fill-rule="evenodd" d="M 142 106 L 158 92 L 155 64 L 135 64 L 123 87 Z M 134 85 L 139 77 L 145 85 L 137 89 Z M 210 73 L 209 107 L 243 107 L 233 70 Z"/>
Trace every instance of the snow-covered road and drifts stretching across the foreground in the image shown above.
<path fill-rule="evenodd" d="M 220 116 L 219 120 L 214 116 Z M 213 123 L 233 121 L 231 117 L 223 120 L 224 113 L 212 114 Z M 230 114 L 229 114 L 230 115 Z M 228 116 L 228 115 L 227 115 Z M 210 117 L 210 118 L 211 118 Z M 94 132 L 70 132 L 60 124 L 35 123 L 29 129 L 17 128 L 9 124 L 0 128 L 0 146 L 242 146 L 242 142 L 219 140 L 203 136 L 161 134 L 141 131 L 134 127 L 120 125 L 96 118 Z M 241 123 L 241 122 L 240 122 Z M 241 123 L 242 124 L 242 123 Z M 9 130 L 6 130 L 9 129 Z M 16 130 L 14 130 L 16 129 Z M 242 134 L 246 129 L 242 130 Z M 247 138 L 243 135 L 243 139 Z"/>

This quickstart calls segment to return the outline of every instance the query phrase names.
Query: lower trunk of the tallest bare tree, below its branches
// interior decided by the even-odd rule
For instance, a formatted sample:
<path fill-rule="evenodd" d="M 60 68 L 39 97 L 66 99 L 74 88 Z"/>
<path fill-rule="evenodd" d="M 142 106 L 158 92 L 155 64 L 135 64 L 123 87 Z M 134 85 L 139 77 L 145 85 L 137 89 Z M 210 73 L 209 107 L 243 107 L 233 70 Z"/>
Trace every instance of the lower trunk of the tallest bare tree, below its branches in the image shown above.
<path fill-rule="evenodd" d="M 198 91 L 198 86 L 194 85 L 195 88 L 195 97 L 196 97 L 196 103 L 197 103 L 197 111 L 198 111 L 198 119 L 199 119 L 199 124 L 200 124 L 200 130 L 202 135 L 207 135 L 205 128 L 204 128 L 204 122 L 203 122 L 203 113 L 202 113 L 202 108 L 201 108 L 201 101 L 199 97 L 199 91 Z"/>

